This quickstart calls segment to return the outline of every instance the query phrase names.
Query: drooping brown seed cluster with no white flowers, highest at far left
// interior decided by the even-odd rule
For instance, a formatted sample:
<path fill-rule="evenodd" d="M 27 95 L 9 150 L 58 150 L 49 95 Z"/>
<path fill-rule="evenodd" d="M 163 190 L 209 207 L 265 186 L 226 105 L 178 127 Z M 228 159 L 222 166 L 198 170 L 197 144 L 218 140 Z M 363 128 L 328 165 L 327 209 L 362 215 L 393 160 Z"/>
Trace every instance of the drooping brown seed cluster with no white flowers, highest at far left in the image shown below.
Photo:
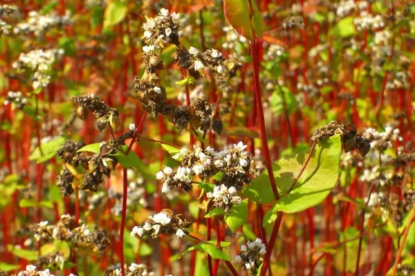
<path fill-rule="evenodd" d="M 76 115 L 81 120 L 86 120 L 89 111 L 93 113 L 97 120 L 97 127 L 100 131 L 107 129 L 108 125 L 117 130 L 120 126 L 120 117 L 117 109 L 109 107 L 104 102 L 100 101 L 98 95 L 90 93 L 89 95 L 77 95 L 72 98 L 76 105 Z"/>

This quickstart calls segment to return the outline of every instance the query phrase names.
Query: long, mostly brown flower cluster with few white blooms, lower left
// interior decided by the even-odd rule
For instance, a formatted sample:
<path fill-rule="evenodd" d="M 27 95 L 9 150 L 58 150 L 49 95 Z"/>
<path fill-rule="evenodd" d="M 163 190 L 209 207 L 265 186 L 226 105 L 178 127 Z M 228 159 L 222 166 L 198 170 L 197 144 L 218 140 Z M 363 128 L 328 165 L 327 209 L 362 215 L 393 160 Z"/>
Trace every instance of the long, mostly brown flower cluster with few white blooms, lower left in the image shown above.
<path fill-rule="evenodd" d="M 68 214 L 63 214 L 55 225 L 42 221 L 30 224 L 28 230 L 33 233 L 35 240 L 42 242 L 57 239 L 72 243 L 77 248 L 90 248 L 94 251 L 103 251 L 109 246 L 109 239 L 104 230 L 96 226 L 89 230 L 86 224 L 76 227 L 75 219 Z"/>

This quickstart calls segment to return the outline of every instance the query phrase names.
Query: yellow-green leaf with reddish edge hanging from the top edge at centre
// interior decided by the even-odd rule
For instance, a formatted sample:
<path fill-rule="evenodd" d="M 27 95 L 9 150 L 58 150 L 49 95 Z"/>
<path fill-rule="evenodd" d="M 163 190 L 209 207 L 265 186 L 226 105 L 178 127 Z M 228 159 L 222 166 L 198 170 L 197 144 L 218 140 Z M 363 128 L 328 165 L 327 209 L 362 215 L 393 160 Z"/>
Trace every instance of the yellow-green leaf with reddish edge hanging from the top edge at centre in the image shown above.
<path fill-rule="evenodd" d="M 252 8 L 255 10 L 254 6 L 255 0 L 224 0 L 223 1 L 223 12 L 225 17 L 228 20 L 229 24 L 239 33 L 249 39 L 254 41 L 254 34 L 251 30 L 251 18 L 249 13 L 248 1 L 252 2 Z M 258 9 L 258 8 L 256 8 Z M 259 29 L 260 23 L 257 17 L 254 17 L 257 29 Z"/>

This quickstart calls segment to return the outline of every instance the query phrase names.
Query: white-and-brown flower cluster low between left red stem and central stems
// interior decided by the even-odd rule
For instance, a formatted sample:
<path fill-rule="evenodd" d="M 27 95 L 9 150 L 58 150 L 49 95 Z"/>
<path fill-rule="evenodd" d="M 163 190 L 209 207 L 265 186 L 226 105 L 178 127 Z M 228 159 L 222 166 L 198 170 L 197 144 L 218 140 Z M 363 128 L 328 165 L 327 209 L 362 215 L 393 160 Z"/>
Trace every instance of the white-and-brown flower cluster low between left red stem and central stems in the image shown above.
<path fill-rule="evenodd" d="M 184 237 L 191 223 L 183 221 L 179 215 L 173 214 L 172 210 L 163 209 L 158 214 L 148 217 L 139 226 L 134 226 L 131 237 L 151 236 L 156 238 L 158 234 L 176 234 L 176 237 Z"/>

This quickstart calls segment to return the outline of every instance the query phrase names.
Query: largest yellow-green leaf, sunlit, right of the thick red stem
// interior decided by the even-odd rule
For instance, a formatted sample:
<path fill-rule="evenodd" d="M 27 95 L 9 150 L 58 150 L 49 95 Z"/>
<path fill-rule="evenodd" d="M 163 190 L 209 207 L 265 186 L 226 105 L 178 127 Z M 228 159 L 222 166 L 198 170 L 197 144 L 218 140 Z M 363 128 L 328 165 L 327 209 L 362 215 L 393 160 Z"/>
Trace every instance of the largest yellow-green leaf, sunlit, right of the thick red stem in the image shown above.
<path fill-rule="evenodd" d="M 275 182 L 282 197 L 266 212 L 264 226 L 277 219 L 277 212 L 301 212 L 320 204 L 338 181 L 342 142 L 340 135 L 325 139 L 316 145 L 307 167 L 293 190 L 290 189 L 297 174 L 308 158 L 309 150 L 295 156 L 284 156 L 273 165 Z M 264 185 L 270 185 L 269 181 Z"/>

